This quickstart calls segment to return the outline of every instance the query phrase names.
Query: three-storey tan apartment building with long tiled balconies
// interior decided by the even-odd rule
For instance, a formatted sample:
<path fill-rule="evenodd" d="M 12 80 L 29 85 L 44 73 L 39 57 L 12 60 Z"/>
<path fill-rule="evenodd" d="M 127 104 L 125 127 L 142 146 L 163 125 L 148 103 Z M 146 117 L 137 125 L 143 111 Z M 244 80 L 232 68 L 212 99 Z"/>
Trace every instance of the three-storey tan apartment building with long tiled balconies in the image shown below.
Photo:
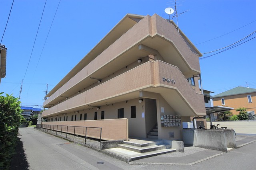
<path fill-rule="evenodd" d="M 182 122 L 206 115 L 194 81 L 201 56 L 173 21 L 127 14 L 47 94 L 42 117 L 96 127 L 127 118 L 129 137 L 152 137 L 158 125 L 155 138 L 182 140 Z"/>

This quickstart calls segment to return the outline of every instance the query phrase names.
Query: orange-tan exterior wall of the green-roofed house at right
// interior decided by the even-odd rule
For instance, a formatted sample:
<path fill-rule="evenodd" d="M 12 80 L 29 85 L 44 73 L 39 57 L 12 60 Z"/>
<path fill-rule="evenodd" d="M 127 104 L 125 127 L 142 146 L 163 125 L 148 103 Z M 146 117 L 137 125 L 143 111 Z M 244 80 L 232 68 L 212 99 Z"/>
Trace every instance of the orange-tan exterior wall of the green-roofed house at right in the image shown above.
<path fill-rule="evenodd" d="M 248 102 L 247 96 L 251 95 L 252 102 Z M 225 105 L 222 105 L 221 99 L 224 98 Z M 239 114 L 239 111 L 236 109 L 240 107 L 245 107 L 247 111 L 254 111 L 256 113 L 256 93 L 248 93 L 248 94 L 239 94 L 234 96 L 224 96 L 220 98 L 213 98 L 213 105 L 214 106 L 226 106 L 226 107 L 233 107 L 234 109 L 231 112 L 234 115 Z"/>

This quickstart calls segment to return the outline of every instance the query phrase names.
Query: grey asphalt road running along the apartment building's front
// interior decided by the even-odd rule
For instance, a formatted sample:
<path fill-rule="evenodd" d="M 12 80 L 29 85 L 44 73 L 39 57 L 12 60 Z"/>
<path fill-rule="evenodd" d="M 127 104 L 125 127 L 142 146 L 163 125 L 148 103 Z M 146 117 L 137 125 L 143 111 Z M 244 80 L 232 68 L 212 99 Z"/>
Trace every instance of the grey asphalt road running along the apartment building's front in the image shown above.
<path fill-rule="evenodd" d="M 254 170 L 256 167 L 256 142 L 193 165 L 134 165 L 70 143 L 34 129 L 34 127 L 20 128 L 19 133 L 20 142 L 11 164 L 11 170 Z"/>

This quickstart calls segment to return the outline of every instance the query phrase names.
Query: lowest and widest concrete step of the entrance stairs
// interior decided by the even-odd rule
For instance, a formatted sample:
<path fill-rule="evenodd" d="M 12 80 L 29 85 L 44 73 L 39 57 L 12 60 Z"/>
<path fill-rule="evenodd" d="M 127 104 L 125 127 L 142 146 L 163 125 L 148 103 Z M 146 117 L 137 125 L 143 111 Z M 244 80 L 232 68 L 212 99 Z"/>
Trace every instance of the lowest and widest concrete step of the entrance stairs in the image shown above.
<path fill-rule="evenodd" d="M 151 152 L 138 153 L 131 150 L 122 149 L 122 148 L 112 148 L 112 149 L 106 149 L 104 150 L 104 152 L 106 152 L 108 155 L 114 158 L 117 158 L 119 160 L 130 162 L 133 160 L 139 160 L 139 159 L 148 158 L 151 156 L 157 156 L 160 154 L 176 152 L 176 149 L 162 149 L 162 150 L 155 150 Z"/>

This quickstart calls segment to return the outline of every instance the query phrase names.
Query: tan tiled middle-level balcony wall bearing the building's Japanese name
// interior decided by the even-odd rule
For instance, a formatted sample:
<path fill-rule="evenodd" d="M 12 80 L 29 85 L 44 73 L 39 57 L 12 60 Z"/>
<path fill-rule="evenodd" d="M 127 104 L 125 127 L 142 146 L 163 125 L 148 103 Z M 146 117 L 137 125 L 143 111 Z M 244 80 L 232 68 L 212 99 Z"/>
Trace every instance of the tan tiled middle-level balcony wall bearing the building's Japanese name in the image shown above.
<path fill-rule="evenodd" d="M 144 74 L 141 74 L 141 72 Z M 170 84 L 168 82 L 163 82 L 162 77 L 171 77 L 176 81 L 176 83 Z M 118 84 L 118 86 L 113 86 L 114 84 Z M 99 100 L 159 85 L 167 86 L 169 88 L 177 88 L 185 102 L 190 104 L 189 107 L 194 109 L 196 113 L 200 113 L 202 115 L 205 114 L 203 95 L 195 92 L 177 67 L 162 61 L 149 61 L 125 72 L 124 74 L 116 76 L 107 82 L 91 88 L 86 92 L 70 98 L 57 106 L 51 107 L 43 112 L 43 116 L 49 115 L 50 113 L 66 113 L 66 110 L 76 106 L 85 106 Z M 58 108 L 57 110 L 56 107 Z"/>

